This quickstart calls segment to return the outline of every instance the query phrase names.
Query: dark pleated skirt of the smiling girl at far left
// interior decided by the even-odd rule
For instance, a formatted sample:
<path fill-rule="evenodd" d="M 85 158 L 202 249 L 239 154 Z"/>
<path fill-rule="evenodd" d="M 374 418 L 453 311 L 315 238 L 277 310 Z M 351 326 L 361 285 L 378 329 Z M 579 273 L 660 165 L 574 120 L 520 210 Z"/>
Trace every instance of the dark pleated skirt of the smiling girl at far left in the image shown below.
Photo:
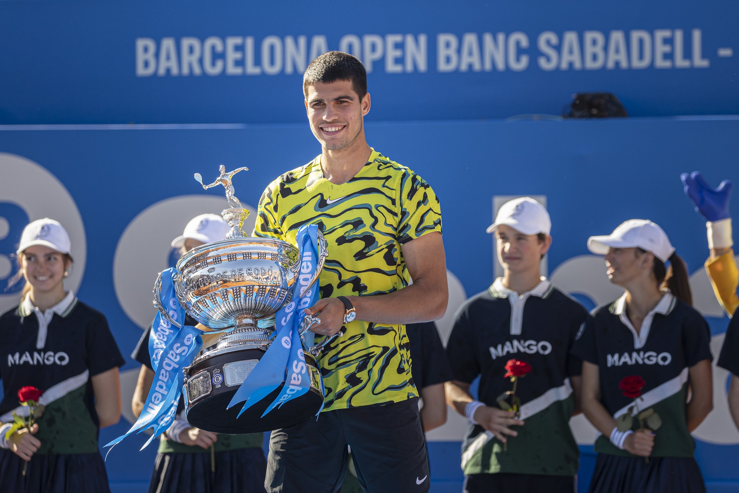
<path fill-rule="evenodd" d="M 0 449 L 0 493 L 110 493 L 100 454 L 34 455 Z"/>

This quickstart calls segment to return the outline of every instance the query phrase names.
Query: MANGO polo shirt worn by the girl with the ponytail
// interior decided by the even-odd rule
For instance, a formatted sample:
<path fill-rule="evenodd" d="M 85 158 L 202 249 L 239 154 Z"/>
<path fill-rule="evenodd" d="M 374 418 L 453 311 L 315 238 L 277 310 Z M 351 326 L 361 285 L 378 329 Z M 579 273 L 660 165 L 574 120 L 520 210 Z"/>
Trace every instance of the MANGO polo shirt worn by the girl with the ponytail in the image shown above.
<path fill-rule="evenodd" d="M 711 334 L 706 321 L 693 307 L 665 293 L 644 317 L 637 333 L 626 313 L 626 294 L 597 307 L 573 347 L 573 354 L 599 367 L 603 406 L 614 418 L 627 412 L 633 398 L 619 389 L 630 375 L 644 378 L 638 409 L 653 408 L 662 425 L 656 431 L 652 457 L 692 457 L 695 443 L 687 429 L 689 367 L 712 359 Z M 638 419 L 633 429 L 639 428 Z M 630 456 L 605 435 L 596 452 Z"/>

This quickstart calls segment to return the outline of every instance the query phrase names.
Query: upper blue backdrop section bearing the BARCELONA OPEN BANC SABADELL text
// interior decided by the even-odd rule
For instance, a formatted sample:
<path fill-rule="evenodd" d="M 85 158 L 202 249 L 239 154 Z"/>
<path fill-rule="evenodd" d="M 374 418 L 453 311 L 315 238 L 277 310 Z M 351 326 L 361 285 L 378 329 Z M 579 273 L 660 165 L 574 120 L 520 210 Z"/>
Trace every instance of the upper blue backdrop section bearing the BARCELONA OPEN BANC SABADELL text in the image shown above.
<path fill-rule="evenodd" d="M 739 113 L 739 5 L 3 1 L 0 123 L 284 123 L 326 50 L 371 70 L 372 120 L 559 115 L 608 90 L 631 115 Z"/>

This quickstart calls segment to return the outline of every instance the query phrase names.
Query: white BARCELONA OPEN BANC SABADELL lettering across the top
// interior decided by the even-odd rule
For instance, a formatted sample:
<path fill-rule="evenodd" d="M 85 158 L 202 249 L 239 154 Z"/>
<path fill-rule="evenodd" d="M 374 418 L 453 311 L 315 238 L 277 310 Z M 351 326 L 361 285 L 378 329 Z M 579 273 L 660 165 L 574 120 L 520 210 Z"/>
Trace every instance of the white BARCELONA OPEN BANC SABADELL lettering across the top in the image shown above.
<path fill-rule="evenodd" d="M 432 35 L 433 36 L 433 35 Z M 437 33 L 437 72 L 702 69 L 703 33 L 692 29 L 545 30 L 533 38 L 511 33 Z M 346 34 L 332 49 L 361 59 L 367 72 L 424 73 L 429 68 L 426 33 Z M 185 36 L 135 40 L 137 77 L 270 76 L 302 73 L 329 50 L 325 35 Z M 530 64 L 535 60 L 536 64 Z M 327 201 L 332 203 L 332 201 Z"/>

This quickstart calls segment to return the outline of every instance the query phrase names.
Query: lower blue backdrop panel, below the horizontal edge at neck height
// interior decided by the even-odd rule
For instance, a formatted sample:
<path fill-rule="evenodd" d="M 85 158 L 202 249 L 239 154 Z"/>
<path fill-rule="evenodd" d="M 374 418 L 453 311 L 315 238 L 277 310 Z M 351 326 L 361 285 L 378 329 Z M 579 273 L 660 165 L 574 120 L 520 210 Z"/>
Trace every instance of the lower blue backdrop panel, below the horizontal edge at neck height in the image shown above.
<path fill-rule="evenodd" d="M 129 353 L 141 329 L 121 306 L 120 293 L 125 293 L 126 285 L 120 285 L 120 276 L 114 275 L 112 267 L 115 257 L 123 254 L 120 244 L 126 228 L 132 231 L 136 218 L 153 210 L 147 209 L 152 204 L 187 194 L 208 196 L 210 191 L 202 191 L 192 175 L 196 171 L 204 177 L 215 174 L 219 163 L 229 169 L 249 167 L 250 171 L 239 174 L 234 181 L 239 198 L 256 205 L 270 180 L 310 160 L 319 147 L 306 124 L 241 125 L 230 129 L 103 128 L 6 127 L 0 130 L 0 151 L 10 154 L 0 154 L 0 166 L 16 166 L 22 171 L 24 166 L 33 165 L 7 163 L 15 159 L 13 154 L 26 157 L 55 175 L 72 195 L 84 222 L 87 244 L 86 265 L 78 265 L 84 267 L 79 296 L 106 314 L 123 353 Z M 437 191 L 448 268 L 468 295 L 486 289 L 491 282 L 493 250 L 485 228 L 492 219 L 491 198 L 497 195 L 546 196 L 554 224 L 554 244 L 548 256 L 550 272 L 557 268 L 562 272 L 573 257 L 588 254 L 585 240 L 589 235 L 606 234 L 631 217 L 647 217 L 664 227 L 678 253 L 687 260 L 689 271 L 700 273 L 707 255 L 705 228 L 684 197 L 678 175 L 701 169 L 712 183 L 724 178 L 739 183 L 735 157 L 738 144 L 734 138 L 738 131 L 739 121 L 728 118 L 487 120 L 367 126 L 372 146 L 418 171 Z M 5 193 L 10 187 L 27 186 L 33 191 L 33 183 L 23 180 L 21 176 L 13 183 L 6 181 L 0 190 Z M 14 200 L 12 205 L 30 211 L 33 204 L 43 202 L 40 192 Z M 220 197 L 220 193 L 214 191 L 212 197 Z M 736 216 L 736 202 L 732 210 Z M 26 214 L 35 219 L 36 215 L 55 217 L 57 213 L 62 211 L 47 206 L 44 211 Z M 7 230 L 19 231 L 22 225 L 13 221 L 22 218 L 22 214 L 8 214 Z M 160 224 L 174 221 L 174 229 L 178 230 L 188 218 L 170 215 L 158 220 Z M 161 256 L 161 263 L 166 264 L 168 245 L 151 245 L 147 234 L 140 234 L 137 241 L 141 262 L 144 256 L 154 255 Z M 11 244 L 3 242 L 5 251 L 1 253 L 10 254 Z M 602 265 L 598 265 L 589 271 L 580 269 L 575 274 L 579 288 L 569 289 L 588 295 L 586 302 L 601 296 L 589 280 L 605 275 Z M 137 262 L 129 268 L 135 271 Z M 144 279 L 144 285 L 152 280 Z M 148 299 L 150 295 L 147 291 L 143 296 Z M 716 313 L 715 307 L 705 303 L 704 307 L 704 313 L 712 316 L 714 334 L 720 336 L 728 319 Z M 136 368 L 129 359 L 123 370 L 135 372 Z M 724 395 L 717 396 L 720 400 L 725 401 Z M 129 425 L 124 421 L 104 429 L 101 443 L 125 431 Z M 727 435 L 735 433 L 730 421 L 715 426 Z M 723 444 L 698 441 L 698 460 L 711 492 L 737 491 L 732 486 L 739 480 L 735 468 L 739 457 L 737 437 L 735 442 Z M 110 480 L 118 492 L 144 491 L 154 447 L 137 452 L 140 443 L 143 441 L 136 439 L 121 443 L 107 461 Z M 435 482 L 432 491 L 460 491 L 459 442 L 432 442 L 430 449 Z M 583 447 L 584 452 L 588 450 L 588 446 Z M 586 455 L 581 488 L 587 486 L 592 466 L 592 458 Z"/>

